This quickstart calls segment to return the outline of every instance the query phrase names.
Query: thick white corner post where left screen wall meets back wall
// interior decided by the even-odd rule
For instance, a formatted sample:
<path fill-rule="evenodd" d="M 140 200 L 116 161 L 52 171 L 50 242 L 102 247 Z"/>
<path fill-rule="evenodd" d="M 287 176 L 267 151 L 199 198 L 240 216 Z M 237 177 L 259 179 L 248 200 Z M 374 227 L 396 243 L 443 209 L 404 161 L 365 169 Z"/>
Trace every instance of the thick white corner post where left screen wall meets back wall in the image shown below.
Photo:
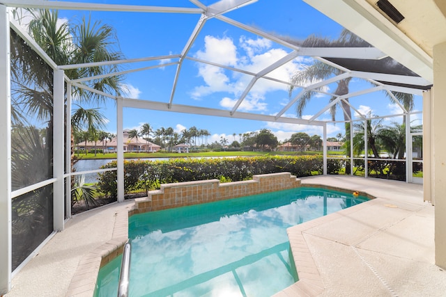
<path fill-rule="evenodd" d="M 63 230 L 65 200 L 63 188 L 63 135 L 65 127 L 63 125 L 63 105 L 64 105 L 64 72 L 54 70 L 54 93 L 53 93 L 53 176 L 57 179 L 54 182 L 53 196 L 53 219 L 54 230 Z"/>

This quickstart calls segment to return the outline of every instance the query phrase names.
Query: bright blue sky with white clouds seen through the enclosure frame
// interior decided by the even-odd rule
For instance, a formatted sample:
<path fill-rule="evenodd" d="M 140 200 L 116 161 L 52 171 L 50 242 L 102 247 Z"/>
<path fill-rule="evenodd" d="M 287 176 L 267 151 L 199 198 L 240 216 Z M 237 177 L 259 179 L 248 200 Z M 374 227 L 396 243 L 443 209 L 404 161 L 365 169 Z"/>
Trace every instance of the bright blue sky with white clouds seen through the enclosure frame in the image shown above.
<path fill-rule="evenodd" d="M 82 1 L 90 2 L 90 1 Z M 99 1 L 96 3 L 123 3 L 123 1 Z M 202 1 L 209 5 L 214 1 Z M 195 8 L 190 1 L 125 1 L 128 4 L 150 6 L 179 6 Z M 167 13 L 113 13 L 113 12 L 83 12 L 61 10 L 61 22 L 79 22 L 82 17 L 91 17 L 93 21 L 108 24 L 116 30 L 118 49 L 125 58 L 142 58 L 149 56 L 169 56 L 181 54 L 187 40 L 190 38 L 200 15 L 196 14 L 167 14 Z M 261 29 L 270 34 L 280 35 L 293 40 L 304 40 L 309 35 L 336 39 L 341 33 L 341 26 L 332 22 L 311 6 L 299 0 L 256 1 L 248 6 L 226 13 L 226 17 Z M 279 60 L 291 49 L 275 42 L 238 29 L 218 19 L 210 19 L 203 26 L 194 41 L 187 56 L 206 61 L 214 61 L 228 67 L 238 67 L 249 72 L 259 72 L 271 63 Z M 123 70 L 139 67 L 160 66 L 176 62 L 176 59 L 164 59 L 144 63 L 129 63 Z M 289 81 L 290 77 L 312 63 L 308 56 L 298 56 L 293 61 L 268 74 L 270 77 Z M 169 102 L 176 73 L 176 65 L 156 67 L 141 72 L 132 72 L 125 76 L 125 97 L 155 102 Z M 231 110 L 240 95 L 247 87 L 252 76 L 220 67 L 185 60 L 181 67 L 174 95 L 174 104 L 203 106 L 213 109 Z M 370 83 L 353 79 L 351 90 L 367 88 Z M 328 86 L 327 91 L 334 91 L 336 83 Z M 295 90 L 294 97 L 299 90 Z M 275 115 L 289 102 L 289 87 L 259 79 L 238 111 Z M 330 97 L 316 95 L 307 104 L 302 118 L 311 118 Z M 390 115 L 401 113 L 401 109 L 383 95 L 371 93 L 350 99 L 356 109 L 372 115 Z M 105 105 L 100 106 L 107 118 L 106 131 L 116 133 L 116 104 L 107 99 Z M 415 97 L 415 111 L 421 111 L 421 98 Z M 286 116 L 296 117 L 295 107 L 285 112 Z M 421 115 L 415 115 L 413 120 L 419 122 Z M 337 120 L 343 120 L 343 114 L 338 111 Z M 330 120 L 328 113 L 323 113 L 318 120 Z M 390 121 L 401 122 L 401 118 Z M 390 122 L 388 121 L 388 122 Z M 216 118 L 205 115 L 190 115 L 186 113 L 171 113 L 139 109 L 124 109 L 124 129 L 139 129 L 144 123 L 151 125 L 153 130 L 160 127 L 172 127 L 180 133 L 183 129 L 195 126 L 207 129 L 211 136 L 208 142 L 220 141 L 222 137 L 238 141 L 238 135 L 259 129 L 270 129 L 279 141 L 290 138 L 295 132 L 303 131 L 309 135 L 322 135 L 321 127 L 306 125 L 291 125 L 275 122 L 261 122 L 253 120 L 239 120 L 233 118 Z M 328 137 L 343 134 L 343 125 L 328 126 Z M 236 138 L 233 137 L 236 134 Z"/>

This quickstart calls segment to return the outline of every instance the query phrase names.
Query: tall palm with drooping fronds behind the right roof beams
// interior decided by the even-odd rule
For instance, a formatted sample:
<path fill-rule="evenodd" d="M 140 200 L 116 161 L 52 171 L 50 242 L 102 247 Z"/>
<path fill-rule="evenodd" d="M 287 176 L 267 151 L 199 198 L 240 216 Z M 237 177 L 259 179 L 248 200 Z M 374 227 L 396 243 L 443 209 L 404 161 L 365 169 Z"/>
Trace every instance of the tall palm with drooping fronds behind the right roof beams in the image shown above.
<path fill-rule="evenodd" d="M 328 38 L 318 38 L 316 36 L 310 36 L 306 40 L 302 42 L 300 45 L 302 47 L 371 47 L 369 43 L 362 40 L 361 38 L 357 37 L 357 35 L 351 33 L 350 31 L 344 29 L 341 32 L 341 35 L 337 40 L 329 40 Z M 342 74 L 341 70 L 332 67 L 331 65 L 325 64 L 321 61 L 316 61 L 313 65 L 310 65 L 305 68 L 305 70 L 296 72 L 293 77 L 291 77 L 291 87 L 289 89 L 289 95 L 291 96 L 294 86 L 307 86 L 309 83 L 314 83 L 316 81 L 323 81 L 326 79 L 329 79 L 330 77 L 335 77 L 339 74 Z M 346 79 L 341 79 L 337 81 L 337 88 L 334 90 L 334 95 L 341 96 L 348 94 L 349 90 L 349 83 L 351 81 L 351 77 L 348 77 Z M 321 88 L 316 88 L 315 90 L 321 90 Z M 296 104 L 296 113 L 298 117 L 302 117 L 302 113 L 305 109 L 305 106 L 307 106 L 307 103 L 312 99 L 314 95 L 314 92 L 312 90 L 308 90 L 298 99 Z M 389 93 L 385 93 L 387 97 L 391 97 Z M 412 94 L 406 94 L 406 93 L 396 93 L 392 92 L 392 95 L 394 95 L 401 104 L 406 108 L 407 111 L 411 111 L 413 108 L 413 95 Z M 337 96 L 333 96 L 330 98 L 330 102 L 333 102 L 335 99 L 337 99 Z M 332 120 L 335 120 L 335 115 L 337 108 L 341 106 L 341 108 L 344 110 L 344 120 L 345 123 L 345 129 L 346 129 L 346 143 L 344 145 L 346 146 L 346 155 L 350 156 L 350 150 L 348 150 L 349 146 L 349 140 L 350 140 L 350 120 L 351 120 L 351 108 L 348 105 L 348 98 L 342 99 L 337 104 L 334 104 L 330 108 L 330 114 L 332 115 Z M 350 172 L 349 166 L 346 166 L 346 173 L 348 174 Z"/>

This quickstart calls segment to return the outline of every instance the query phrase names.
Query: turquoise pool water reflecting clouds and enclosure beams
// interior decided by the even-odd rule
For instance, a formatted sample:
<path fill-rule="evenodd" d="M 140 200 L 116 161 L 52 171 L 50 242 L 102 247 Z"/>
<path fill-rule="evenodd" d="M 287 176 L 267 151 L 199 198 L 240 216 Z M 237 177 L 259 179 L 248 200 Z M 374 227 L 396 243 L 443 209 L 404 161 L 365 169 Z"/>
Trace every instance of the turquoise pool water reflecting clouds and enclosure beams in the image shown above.
<path fill-rule="evenodd" d="M 366 200 L 293 188 L 131 216 L 129 296 L 272 296 L 298 280 L 286 228 Z M 120 264 L 95 296 L 116 296 Z"/>

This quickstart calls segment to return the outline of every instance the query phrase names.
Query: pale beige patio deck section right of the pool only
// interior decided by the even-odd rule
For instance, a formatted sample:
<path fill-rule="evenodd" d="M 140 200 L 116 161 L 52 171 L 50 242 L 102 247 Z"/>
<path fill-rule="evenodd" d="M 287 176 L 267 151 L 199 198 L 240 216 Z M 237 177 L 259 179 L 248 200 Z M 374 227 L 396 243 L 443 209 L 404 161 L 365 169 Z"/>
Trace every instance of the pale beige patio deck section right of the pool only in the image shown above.
<path fill-rule="evenodd" d="M 302 178 L 302 186 L 374 199 L 289 227 L 299 280 L 274 297 L 442 296 L 446 273 L 435 265 L 434 207 L 422 185 L 330 176 Z"/>

